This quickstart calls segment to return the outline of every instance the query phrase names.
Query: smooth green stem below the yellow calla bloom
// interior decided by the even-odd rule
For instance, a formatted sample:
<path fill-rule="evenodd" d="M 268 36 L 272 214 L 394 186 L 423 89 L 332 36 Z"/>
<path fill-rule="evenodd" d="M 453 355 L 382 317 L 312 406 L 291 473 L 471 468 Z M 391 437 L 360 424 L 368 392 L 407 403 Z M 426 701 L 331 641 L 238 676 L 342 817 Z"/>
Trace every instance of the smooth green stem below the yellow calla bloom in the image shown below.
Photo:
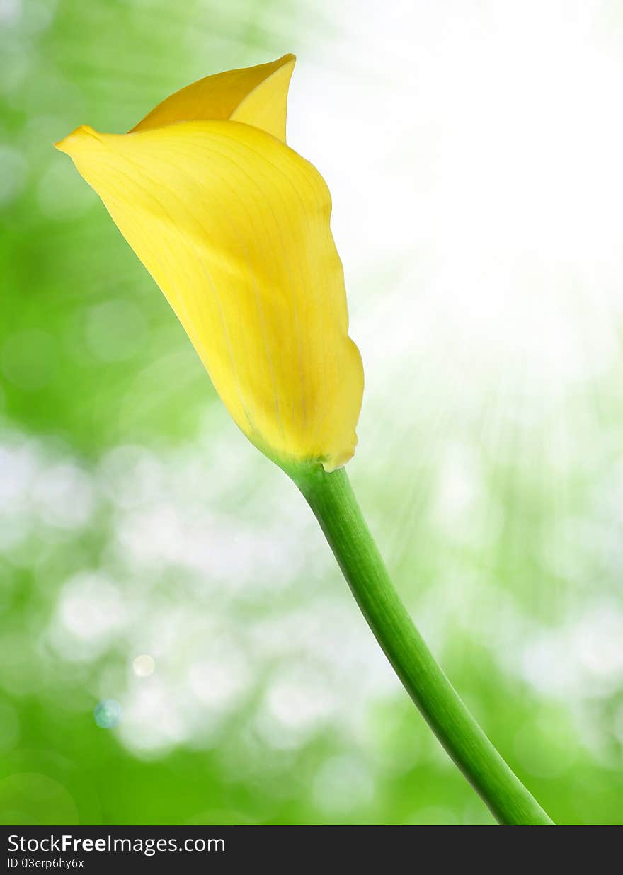
<path fill-rule="evenodd" d="M 395 591 L 342 468 L 290 470 L 316 515 L 361 613 L 437 739 L 499 823 L 553 825 L 480 729 Z"/>

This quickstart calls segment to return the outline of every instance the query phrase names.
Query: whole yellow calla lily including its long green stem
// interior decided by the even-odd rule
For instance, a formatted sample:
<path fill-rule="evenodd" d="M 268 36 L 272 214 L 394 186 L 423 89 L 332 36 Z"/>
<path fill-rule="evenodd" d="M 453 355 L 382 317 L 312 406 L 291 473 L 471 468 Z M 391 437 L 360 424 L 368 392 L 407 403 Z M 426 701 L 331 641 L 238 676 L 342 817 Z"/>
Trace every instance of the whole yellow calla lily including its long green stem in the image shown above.
<path fill-rule="evenodd" d="M 553 822 L 495 750 L 394 589 L 344 470 L 363 392 L 324 179 L 285 144 L 294 57 L 208 76 L 128 134 L 57 147 L 165 293 L 235 422 L 297 484 L 361 612 L 500 823 Z M 325 470 L 323 470 L 323 467 Z"/>

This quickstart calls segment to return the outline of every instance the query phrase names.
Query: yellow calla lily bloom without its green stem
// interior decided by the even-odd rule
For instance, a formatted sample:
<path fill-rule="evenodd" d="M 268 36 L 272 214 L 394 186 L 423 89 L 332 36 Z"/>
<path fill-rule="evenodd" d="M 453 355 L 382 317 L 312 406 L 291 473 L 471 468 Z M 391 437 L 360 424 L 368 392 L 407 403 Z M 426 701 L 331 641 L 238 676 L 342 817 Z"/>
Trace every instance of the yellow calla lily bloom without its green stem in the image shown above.
<path fill-rule="evenodd" d="M 363 391 L 331 196 L 285 144 L 293 55 L 182 88 L 73 159 L 172 305 L 244 434 L 283 467 L 353 455 Z"/>

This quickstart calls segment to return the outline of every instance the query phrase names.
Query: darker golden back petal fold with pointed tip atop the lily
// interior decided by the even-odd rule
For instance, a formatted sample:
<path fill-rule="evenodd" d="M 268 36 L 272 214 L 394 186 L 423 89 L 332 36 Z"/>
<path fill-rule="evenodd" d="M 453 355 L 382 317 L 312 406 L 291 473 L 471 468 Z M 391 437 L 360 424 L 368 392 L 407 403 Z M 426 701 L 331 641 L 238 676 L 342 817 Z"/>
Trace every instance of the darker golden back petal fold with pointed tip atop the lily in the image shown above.
<path fill-rule="evenodd" d="M 268 131 L 285 142 L 288 87 L 296 58 L 285 54 L 270 64 L 206 76 L 158 103 L 137 130 L 175 122 L 232 119 Z"/>

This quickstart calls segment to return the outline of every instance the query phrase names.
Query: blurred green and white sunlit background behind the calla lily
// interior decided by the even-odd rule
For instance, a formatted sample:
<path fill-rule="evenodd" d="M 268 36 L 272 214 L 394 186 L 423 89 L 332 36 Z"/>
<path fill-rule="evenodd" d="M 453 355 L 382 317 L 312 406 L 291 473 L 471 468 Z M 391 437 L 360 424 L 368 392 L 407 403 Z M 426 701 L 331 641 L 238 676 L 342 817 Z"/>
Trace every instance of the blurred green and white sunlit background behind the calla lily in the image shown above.
<path fill-rule="evenodd" d="M 621 823 L 623 4 L 0 0 L 0 34 L 2 823 L 493 823 L 52 149 L 288 51 L 381 551 L 556 822 Z"/>

